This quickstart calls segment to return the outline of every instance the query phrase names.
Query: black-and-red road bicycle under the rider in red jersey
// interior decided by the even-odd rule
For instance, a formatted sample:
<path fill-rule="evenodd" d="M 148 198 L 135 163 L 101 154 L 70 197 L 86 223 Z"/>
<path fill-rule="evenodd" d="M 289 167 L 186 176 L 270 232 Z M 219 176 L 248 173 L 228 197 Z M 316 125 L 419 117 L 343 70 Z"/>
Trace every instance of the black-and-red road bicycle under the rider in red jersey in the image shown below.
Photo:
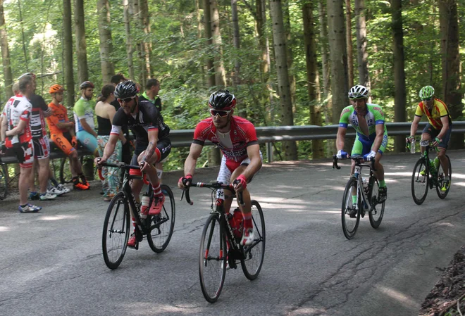
<path fill-rule="evenodd" d="M 192 183 L 186 187 L 182 196 L 186 197 L 187 203 L 192 205 L 189 195 L 190 187 L 203 187 L 212 190 L 211 214 L 206 220 L 199 251 L 199 277 L 202 293 L 206 301 L 216 302 L 223 289 L 227 268 L 237 268 L 240 263 L 242 272 L 249 280 L 259 276 L 263 258 L 265 255 L 265 219 L 259 202 L 252 200 L 252 223 L 254 225 L 254 242 L 250 246 L 240 245 L 242 239 L 242 222 L 237 222 L 233 214 L 224 209 L 223 191 L 228 189 L 233 194 L 233 184 Z M 181 196 L 181 199 L 182 199 Z M 242 194 L 239 196 L 241 205 Z M 216 200 L 216 208 L 213 209 L 213 199 Z M 236 212 L 240 210 L 235 210 Z M 240 216 L 242 221 L 242 214 Z"/>

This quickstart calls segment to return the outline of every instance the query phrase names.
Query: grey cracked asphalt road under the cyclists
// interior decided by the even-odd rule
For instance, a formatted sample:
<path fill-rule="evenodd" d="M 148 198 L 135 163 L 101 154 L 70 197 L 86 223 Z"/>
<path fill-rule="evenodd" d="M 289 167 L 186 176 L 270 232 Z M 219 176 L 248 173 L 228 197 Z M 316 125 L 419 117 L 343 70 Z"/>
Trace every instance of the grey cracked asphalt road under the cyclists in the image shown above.
<path fill-rule="evenodd" d="M 101 254 L 108 203 L 99 183 L 56 201 L 41 213 L 20 214 L 16 197 L 0 202 L 0 315 L 417 315 L 440 269 L 465 241 L 464 151 L 451 151 L 449 196 L 430 191 L 423 206 L 411 198 L 417 155 L 385 156 L 388 186 L 383 222 L 368 217 L 348 241 L 340 205 L 349 162 L 264 165 L 250 184 L 266 220 L 259 277 L 228 270 L 220 299 L 210 304 L 199 286 L 199 239 L 211 205 L 207 189 L 192 188 L 194 206 L 176 198 L 175 232 L 166 251 L 144 242 L 111 271 Z M 216 179 L 217 168 L 194 180 Z"/>

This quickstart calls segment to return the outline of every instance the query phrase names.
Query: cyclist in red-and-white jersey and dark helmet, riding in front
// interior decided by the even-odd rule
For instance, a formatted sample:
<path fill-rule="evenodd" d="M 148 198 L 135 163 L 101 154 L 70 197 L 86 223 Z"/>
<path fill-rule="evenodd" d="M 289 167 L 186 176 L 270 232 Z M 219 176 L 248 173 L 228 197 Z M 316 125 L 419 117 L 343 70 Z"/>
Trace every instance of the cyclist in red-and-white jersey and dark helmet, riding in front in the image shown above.
<path fill-rule="evenodd" d="M 230 184 L 236 180 L 235 189 L 237 192 L 243 192 L 245 206 L 240 207 L 244 217 L 241 244 L 249 246 L 254 241 L 254 231 L 247 182 L 250 182 L 261 168 L 261 153 L 254 125 L 244 118 L 233 116 L 235 105 L 235 96 L 228 90 L 218 90 L 211 94 L 211 118 L 202 120 L 195 127 L 194 141 L 184 164 L 184 177 L 179 179 L 178 187 L 184 189 L 185 185 L 192 183 L 197 159 L 207 139 L 221 148 L 224 156 L 217 180 L 223 184 Z M 225 210 L 229 212 L 233 194 L 226 195 L 223 191 L 218 193 L 219 198 L 224 200 Z"/>

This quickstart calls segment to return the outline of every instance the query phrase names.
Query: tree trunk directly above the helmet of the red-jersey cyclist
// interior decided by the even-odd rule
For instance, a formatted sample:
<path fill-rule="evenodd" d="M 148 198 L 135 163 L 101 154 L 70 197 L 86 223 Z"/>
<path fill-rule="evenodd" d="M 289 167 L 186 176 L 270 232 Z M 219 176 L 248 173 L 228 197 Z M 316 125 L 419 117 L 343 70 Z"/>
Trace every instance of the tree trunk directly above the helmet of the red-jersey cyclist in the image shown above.
<path fill-rule="evenodd" d="M 220 30 L 220 13 L 218 12 L 218 3 L 216 0 L 210 0 L 211 11 L 211 34 L 215 51 L 215 83 L 217 87 L 226 86 L 225 67 L 223 65 L 223 43 Z"/>

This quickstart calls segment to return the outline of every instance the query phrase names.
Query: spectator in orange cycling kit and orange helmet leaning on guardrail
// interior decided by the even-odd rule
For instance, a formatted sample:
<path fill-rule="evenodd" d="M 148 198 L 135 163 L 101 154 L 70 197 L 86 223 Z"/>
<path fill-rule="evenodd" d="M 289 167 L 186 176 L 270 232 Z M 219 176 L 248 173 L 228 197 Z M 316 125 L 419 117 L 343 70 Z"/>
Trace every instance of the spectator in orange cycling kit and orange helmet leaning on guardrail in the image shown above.
<path fill-rule="evenodd" d="M 74 122 L 68 119 L 68 110 L 61 104 L 65 89 L 59 84 L 54 84 L 49 89 L 51 102 L 49 108 L 52 115 L 46 118 L 49 123 L 50 138 L 70 158 L 70 171 L 73 175 L 73 188 L 87 190 L 89 187 L 79 181 L 82 175 L 82 165 L 77 154 L 77 139 L 74 132 Z"/>

